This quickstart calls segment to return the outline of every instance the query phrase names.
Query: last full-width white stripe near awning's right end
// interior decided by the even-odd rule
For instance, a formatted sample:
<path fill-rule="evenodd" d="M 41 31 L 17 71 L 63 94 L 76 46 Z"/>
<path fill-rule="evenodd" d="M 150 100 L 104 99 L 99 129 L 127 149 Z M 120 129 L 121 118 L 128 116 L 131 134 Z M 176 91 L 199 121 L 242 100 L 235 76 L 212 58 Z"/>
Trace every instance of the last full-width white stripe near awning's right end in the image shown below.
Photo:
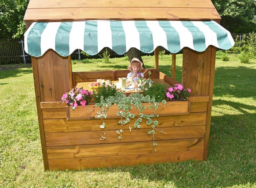
<path fill-rule="evenodd" d="M 209 45 L 213 45 L 219 48 L 217 34 L 212 31 L 209 26 L 200 21 L 192 21 L 192 23 L 194 24 L 194 26 L 198 27 L 201 32 L 204 33 L 206 47 L 208 47 Z"/>

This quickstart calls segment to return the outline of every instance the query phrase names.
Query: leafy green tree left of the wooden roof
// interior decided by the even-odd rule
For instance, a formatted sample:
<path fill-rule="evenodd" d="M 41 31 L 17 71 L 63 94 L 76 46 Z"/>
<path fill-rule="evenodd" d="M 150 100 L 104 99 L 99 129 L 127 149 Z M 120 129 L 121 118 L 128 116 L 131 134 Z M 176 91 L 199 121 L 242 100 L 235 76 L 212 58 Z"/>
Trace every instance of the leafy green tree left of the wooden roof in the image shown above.
<path fill-rule="evenodd" d="M 23 17 L 29 0 L 0 0 L 0 38 L 19 37 L 25 31 Z"/>

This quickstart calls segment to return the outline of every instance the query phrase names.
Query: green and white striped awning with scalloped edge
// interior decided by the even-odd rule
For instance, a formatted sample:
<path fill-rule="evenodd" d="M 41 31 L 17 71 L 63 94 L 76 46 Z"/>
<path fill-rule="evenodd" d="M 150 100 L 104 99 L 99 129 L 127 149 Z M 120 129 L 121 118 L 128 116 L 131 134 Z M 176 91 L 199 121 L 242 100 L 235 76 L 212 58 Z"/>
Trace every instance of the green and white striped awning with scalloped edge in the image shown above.
<path fill-rule="evenodd" d="M 81 49 L 89 55 L 109 47 L 122 55 L 131 47 L 151 53 L 163 46 L 172 53 L 183 47 L 203 52 L 209 45 L 230 49 L 234 40 L 215 21 L 78 21 L 32 23 L 25 35 L 25 51 L 39 57 L 48 49 L 61 56 Z"/>

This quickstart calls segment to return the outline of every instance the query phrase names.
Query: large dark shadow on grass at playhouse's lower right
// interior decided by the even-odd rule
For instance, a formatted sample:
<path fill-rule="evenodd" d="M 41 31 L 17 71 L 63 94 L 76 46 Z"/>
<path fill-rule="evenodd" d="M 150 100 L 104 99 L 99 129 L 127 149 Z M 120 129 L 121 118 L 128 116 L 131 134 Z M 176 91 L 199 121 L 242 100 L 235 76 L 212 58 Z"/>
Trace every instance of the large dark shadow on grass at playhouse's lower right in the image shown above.
<path fill-rule="evenodd" d="M 173 184 L 178 188 L 253 185 L 256 183 L 255 122 L 256 113 L 213 116 L 207 161 L 190 160 L 89 171 L 113 174 L 128 172 L 134 181 L 141 179 L 161 185 Z"/>

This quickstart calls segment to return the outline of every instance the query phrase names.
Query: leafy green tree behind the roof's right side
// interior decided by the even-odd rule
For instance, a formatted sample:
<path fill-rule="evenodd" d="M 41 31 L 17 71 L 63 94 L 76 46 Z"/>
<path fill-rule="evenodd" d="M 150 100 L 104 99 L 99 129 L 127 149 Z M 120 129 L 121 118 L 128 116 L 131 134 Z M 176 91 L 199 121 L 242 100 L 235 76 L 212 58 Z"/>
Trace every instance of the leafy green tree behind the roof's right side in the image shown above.
<path fill-rule="evenodd" d="M 255 0 L 212 0 L 221 16 L 221 26 L 232 33 L 256 31 Z"/>

